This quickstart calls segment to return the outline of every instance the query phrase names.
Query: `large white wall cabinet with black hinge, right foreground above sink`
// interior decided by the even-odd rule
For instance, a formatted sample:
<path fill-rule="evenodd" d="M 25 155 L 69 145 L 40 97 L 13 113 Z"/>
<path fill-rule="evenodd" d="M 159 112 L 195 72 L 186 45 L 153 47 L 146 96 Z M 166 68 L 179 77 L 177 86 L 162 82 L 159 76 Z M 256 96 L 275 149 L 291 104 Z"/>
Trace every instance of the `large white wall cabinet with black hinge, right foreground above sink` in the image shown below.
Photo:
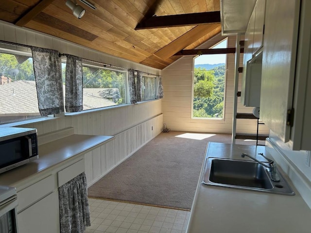
<path fill-rule="evenodd" d="M 266 1 L 260 118 L 293 150 L 311 150 L 310 9 L 308 0 Z"/>

